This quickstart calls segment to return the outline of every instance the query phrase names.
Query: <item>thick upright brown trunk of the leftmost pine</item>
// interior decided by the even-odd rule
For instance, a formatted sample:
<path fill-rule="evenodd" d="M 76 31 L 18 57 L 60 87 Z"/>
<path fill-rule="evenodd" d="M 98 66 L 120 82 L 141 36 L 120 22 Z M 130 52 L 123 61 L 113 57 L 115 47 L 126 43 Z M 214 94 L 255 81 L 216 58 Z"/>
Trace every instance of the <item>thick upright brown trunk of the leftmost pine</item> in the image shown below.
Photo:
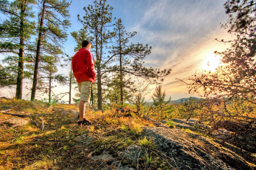
<path fill-rule="evenodd" d="M 24 69 L 24 2 L 20 5 L 20 38 L 19 38 L 19 61 L 16 86 L 16 99 L 22 99 L 23 69 Z"/>

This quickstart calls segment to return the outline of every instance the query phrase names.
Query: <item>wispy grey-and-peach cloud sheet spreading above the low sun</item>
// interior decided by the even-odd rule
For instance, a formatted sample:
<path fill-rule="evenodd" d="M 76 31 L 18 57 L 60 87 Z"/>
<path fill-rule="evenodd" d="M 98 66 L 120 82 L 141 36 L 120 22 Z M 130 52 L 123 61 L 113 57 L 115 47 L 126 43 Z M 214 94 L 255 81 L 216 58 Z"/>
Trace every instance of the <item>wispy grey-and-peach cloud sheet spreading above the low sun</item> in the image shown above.
<path fill-rule="evenodd" d="M 220 22 L 226 22 L 228 17 L 224 2 L 154 1 L 132 28 L 138 32 L 136 40 L 152 45 L 145 65 L 172 68 L 163 83 L 168 95 L 187 93 L 186 87 L 174 78 L 186 79 L 203 69 L 202 63 L 208 54 L 226 48 L 214 40 L 228 36 L 226 30 L 220 28 Z M 174 85 L 177 86 L 173 88 Z"/>

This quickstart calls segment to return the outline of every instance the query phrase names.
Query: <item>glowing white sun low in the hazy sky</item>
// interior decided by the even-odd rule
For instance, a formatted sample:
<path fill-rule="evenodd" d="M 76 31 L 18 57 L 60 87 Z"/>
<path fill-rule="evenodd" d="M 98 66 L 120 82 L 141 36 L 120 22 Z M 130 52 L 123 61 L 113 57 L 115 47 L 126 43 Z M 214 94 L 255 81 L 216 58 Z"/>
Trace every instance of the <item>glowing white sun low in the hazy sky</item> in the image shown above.
<path fill-rule="evenodd" d="M 205 56 L 206 58 L 203 62 L 202 68 L 206 71 L 215 71 L 215 69 L 221 64 L 220 57 L 215 56 L 214 53 L 209 53 Z"/>

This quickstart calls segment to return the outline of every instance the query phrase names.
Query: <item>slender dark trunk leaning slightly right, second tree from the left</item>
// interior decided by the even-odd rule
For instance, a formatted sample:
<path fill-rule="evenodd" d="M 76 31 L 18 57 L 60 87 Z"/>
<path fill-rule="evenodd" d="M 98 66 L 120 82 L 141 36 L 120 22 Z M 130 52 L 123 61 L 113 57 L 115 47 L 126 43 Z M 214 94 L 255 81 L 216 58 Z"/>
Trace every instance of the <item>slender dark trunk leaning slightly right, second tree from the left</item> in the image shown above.
<path fill-rule="evenodd" d="M 40 59 L 40 48 L 41 48 L 41 38 L 42 38 L 42 27 L 44 23 L 44 13 L 45 13 L 45 1 L 43 2 L 43 8 L 42 8 L 42 14 L 40 19 L 40 25 L 39 25 L 39 32 L 38 32 L 38 40 L 37 40 L 37 48 L 36 48 L 36 61 L 35 61 L 35 68 L 34 68 L 34 75 L 33 75 L 33 84 L 32 84 L 32 90 L 31 90 L 31 98 L 30 100 L 35 100 L 36 96 L 36 85 L 37 85 L 37 74 L 38 74 L 38 65 L 39 65 L 39 59 Z"/>

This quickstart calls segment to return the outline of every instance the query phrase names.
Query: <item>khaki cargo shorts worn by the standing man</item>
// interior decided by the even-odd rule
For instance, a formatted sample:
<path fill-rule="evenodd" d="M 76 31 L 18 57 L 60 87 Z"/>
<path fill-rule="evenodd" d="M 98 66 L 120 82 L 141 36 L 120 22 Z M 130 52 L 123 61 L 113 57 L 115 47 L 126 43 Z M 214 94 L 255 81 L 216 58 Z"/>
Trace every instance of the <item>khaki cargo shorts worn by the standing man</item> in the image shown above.
<path fill-rule="evenodd" d="M 80 92 L 80 100 L 89 103 L 91 97 L 91 81 L 82 81 L 77 84 Z"/>

